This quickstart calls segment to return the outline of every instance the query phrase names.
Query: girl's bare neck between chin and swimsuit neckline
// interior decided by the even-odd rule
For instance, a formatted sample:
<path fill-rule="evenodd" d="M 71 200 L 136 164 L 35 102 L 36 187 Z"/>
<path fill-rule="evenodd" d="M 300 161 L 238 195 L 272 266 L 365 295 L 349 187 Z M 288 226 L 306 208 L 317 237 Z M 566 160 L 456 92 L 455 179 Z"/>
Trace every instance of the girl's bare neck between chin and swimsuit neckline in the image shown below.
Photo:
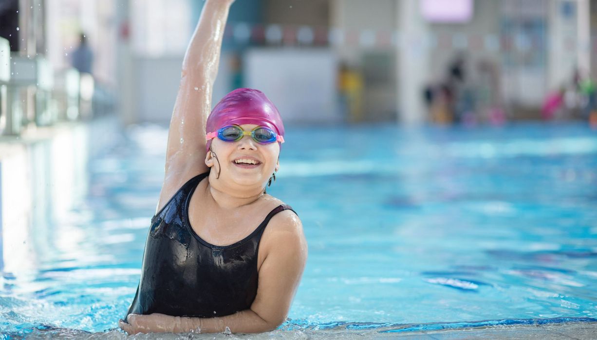
<path fill-rule="evenodd" d="M 247 188 L 239 191 L 229 188 L 219 179 L 211 177 L 207 190 L 216 204 L 224 209 L 232 209 L 251 204 L 263 196 L 263 188 Z"/>

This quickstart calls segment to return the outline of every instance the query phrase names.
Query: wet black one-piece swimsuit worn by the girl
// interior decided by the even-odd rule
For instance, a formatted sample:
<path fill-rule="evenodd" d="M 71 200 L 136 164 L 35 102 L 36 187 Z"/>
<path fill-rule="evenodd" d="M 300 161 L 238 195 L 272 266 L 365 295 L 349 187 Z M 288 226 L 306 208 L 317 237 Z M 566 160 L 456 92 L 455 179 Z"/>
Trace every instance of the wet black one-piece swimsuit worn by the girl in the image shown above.
<path fill-rule="evenodd" d="M 214 317 L 251 307 L 257 294 L 257 250 L 263 230 L 272 216 L 292 209 L 274 208 L 251 235 L 235 244 L 208 244 L 190 227 L 188 214 L 190 198 L 208 174 L 184 183 L 153 217 L 139 287 L 127 315 Z"/>

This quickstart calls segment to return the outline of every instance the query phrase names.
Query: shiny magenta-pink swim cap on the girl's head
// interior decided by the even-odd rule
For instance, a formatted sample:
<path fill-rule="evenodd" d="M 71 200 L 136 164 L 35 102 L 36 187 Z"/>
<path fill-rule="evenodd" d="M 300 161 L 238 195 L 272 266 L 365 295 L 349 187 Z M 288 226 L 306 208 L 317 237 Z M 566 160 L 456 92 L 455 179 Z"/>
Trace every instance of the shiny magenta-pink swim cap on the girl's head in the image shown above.
<path fill-rule="evenodd" d="M 225 95 L 207 117 L 205 133 L 215 132 L 229 124 L 266 126 L 284 136 L 284 124 L 278 109 L 259 90 L 242 88 Z M 278 144 L 282 148 L 282 144 Z M 208 150 L 210 145 L 211 139 L 207 141 Z"/>

